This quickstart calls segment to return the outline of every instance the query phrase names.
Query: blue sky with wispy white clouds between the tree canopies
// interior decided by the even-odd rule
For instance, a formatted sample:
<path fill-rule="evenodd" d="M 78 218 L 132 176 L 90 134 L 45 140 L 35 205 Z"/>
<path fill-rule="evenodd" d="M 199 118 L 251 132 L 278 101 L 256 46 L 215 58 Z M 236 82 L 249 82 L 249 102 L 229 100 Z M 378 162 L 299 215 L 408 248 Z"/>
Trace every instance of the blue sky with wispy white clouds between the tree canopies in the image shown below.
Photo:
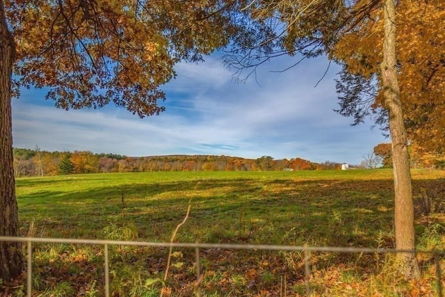
<path fill-rule="evenodd" d="M 262 65 L 245 83 L 218 60 L 179 63 L 176 79 L 161 87 L 165 111 L 140 119 L 126 109 L 65 111 L 44 99 L 47 90 L 22 90 L 13 99 L 13 146 L 47 151 L 89 150 L 127 156 L 212 154 L 257 159 L 300 157 L 359 164 L 378 143 L 389 142 L 372 122 L 352 127 L 338 108 L 339 67 L 326 58 Z M 317 85 L 317 86 L 316 86 Z"/>

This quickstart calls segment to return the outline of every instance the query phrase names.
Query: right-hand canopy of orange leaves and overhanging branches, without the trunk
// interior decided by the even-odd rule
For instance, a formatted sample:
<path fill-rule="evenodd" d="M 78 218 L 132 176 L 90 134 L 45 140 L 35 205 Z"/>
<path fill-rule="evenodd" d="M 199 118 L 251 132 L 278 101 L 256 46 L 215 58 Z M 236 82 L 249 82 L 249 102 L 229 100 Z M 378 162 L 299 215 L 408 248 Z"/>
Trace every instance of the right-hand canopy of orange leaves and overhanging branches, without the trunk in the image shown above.
<path fill-rule="evenodd" d="M 337 79 L 341 115 L 353 125 L 370 116 L 389 135 L 380 64 L 383 1 L 252 1 L 249 37 L 227 52 L 240 79 L 270 58 L 321 56 L 341 65 Z M 396 2 L 396 55 L 407 136 L 426 150 L 444 150 L 445 2 Z"/>

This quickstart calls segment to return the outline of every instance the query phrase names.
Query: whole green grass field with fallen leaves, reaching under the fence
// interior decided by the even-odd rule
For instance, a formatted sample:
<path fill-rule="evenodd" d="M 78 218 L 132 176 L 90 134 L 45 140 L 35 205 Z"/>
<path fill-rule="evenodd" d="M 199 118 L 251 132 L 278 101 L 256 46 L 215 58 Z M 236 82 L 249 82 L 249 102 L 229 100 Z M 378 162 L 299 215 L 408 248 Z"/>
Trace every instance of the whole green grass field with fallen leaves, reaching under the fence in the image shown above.
<path fill-rule="evenodd" d="M 19 178 L 17 200 L 24 236 L 169 242 L 191 201 L 177 242 L 393 248 L 391 177 L 391 170 L 67 175 Z M 417 247 L 443 249 L 445 172 L 412 177 Z M 167 281 L 150 284 L 163 277 L 168 250 L 110 249 L 113 296 L 197 294 L 194 250 L 177 251 Z M 33 255 L 35 296 L 104 295 L 102 247 L 39 244 Z M 210 249 L 200 257 L 201 296 L 306 294 L 300 252 Z M 393 260 L 314 252 L 313 293 L 437 296 L 430 255 L 419 254 L 423 278 L 415 282 L 397 275 Z"/>

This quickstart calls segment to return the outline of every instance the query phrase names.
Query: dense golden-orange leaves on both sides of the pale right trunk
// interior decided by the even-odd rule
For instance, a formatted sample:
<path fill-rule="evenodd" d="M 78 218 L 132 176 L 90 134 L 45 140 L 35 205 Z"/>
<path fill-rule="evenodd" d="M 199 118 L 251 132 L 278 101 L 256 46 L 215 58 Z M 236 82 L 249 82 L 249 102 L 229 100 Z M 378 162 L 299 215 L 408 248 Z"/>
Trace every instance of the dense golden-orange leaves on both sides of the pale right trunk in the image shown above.
<path fill-rule="evenodd" d="M 382 11 L 375 10 L 359 30 L 343 36 L 330 53 L 348 72 L 380 80 Z M 445 145 L 445 2 L 399 1 L 397 6 L 398 81 L 407 133 L 428 150 Z M 380 82 L 375 106 L 382 104 Z"/>

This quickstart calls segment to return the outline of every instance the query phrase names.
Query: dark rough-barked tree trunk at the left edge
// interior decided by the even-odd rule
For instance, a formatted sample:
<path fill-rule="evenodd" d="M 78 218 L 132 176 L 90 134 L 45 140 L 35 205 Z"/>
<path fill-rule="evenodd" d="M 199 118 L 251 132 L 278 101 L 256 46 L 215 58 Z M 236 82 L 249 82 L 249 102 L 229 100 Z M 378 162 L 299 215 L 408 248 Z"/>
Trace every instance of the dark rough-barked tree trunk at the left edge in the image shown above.
<path fill-rule="evenodd" d="M 6 26 L 3 4 L 0 0 L 0 236 L 18 236 L 10 92 L 15 45 Z M 3 282 L 8 283 L 20 275 L 23 264 L 22 244 L 0 241 L 0 278 Z"/>

